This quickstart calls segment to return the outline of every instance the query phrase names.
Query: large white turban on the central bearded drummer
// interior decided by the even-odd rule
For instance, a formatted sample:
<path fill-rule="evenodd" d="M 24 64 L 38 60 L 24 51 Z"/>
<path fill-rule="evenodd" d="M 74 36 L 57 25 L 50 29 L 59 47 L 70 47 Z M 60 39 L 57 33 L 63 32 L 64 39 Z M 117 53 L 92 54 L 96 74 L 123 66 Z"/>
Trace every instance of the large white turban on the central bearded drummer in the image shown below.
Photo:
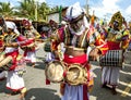
<path fill-rule="evenodd" d="M 76 18 L 82 13 L 85 13 L 85 11 L 80 7 L 80 3 L 76 2 L 68 8 L 66 17 L 71 21 L 72 18 Z"/>

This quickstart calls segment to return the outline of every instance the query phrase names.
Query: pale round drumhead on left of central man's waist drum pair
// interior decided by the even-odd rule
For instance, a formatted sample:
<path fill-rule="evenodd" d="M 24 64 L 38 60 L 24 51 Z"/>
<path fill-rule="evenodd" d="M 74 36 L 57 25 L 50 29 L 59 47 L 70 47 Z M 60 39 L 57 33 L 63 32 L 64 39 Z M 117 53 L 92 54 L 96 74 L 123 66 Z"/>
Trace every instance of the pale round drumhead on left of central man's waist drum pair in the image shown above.
<path fill-rule="evenodd" d="M 63 73 L 64 73 L 66 66 L 60 61 L 52 61 L 47 64 L 45 74 L 47 79 L 49 79 L 51 83 L 60 83 L 63 80 Z"/>

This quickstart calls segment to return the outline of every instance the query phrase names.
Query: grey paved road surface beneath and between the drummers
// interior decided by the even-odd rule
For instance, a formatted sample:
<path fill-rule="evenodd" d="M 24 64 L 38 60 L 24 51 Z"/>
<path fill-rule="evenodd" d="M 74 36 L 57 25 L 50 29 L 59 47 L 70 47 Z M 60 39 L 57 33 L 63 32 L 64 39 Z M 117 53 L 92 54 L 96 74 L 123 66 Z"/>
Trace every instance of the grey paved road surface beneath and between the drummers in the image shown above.
<path fill-rule="evenodd" d="M 45 84 L 45 64 L 44 58 L 46 53 L 43 50 L 43 45 L 37 51 L 36 67 L 27 66 L 27 73 L 24 75 L 27 95 L 25 100 L 60 100 L 59 84 Z M 109 89 L 100 88 L 100 67 L 97 62 L 92 62 L 93 72 L 95 75 L 95 86 L 91 92 L 91 100 L 131 100 L 131 66 L 124 65 L 120 71 L 118 95 L 112 96 Z M 0 100 L 19 100 L 19 95 L 9 96 L 5 89 L 5 80 L 0 82 Z"/>

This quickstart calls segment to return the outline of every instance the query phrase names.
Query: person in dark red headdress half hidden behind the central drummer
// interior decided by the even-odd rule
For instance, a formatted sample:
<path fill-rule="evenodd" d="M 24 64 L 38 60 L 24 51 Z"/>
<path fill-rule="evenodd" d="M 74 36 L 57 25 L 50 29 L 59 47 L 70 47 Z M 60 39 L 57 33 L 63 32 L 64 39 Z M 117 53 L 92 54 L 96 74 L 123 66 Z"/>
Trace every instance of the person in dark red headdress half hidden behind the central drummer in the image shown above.
<path fill-rule="evenodd" d="M 57 48 L 57 39 L 56 38 L 51 38 L 51 36 L 53 36 L 57 33 L 58 29 L 58 24 L 53 21 L 50 20 L 49 21 L 49 30 L 48 30 L 48 35 L 47 35 L 47 41 L 44 46 L 44 50 L 46 51 L 46 65 L 51 62 L 55 61 L 55 59 L 57 58 L 55 55 L 55 50 Z M 53 52 L 52 52 L 53 51 Z M 49 85 L 50 80 L 46 79 L 46 85 Z"/>

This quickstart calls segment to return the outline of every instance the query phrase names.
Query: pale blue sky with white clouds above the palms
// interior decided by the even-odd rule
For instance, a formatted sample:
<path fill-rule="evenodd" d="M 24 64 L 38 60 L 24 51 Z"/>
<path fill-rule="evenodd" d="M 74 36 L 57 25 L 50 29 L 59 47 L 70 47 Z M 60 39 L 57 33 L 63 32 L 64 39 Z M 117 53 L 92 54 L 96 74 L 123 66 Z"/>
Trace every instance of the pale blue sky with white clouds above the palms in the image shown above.
<path fill-rule="evenodd" d="M 17 5 L 17 1 L 21 0 L 4 0 L 4 2 L 10 1 L 12 5 Z M 111 15 L 120 11 L 127 21 L 131 21 L 131 0 L 36 0 L 38 2 L 46 2 L 50 7 L 62 5 L 68 7 L 75 2 L 80 2 L 81 7 L 85 5 L 86 2 L 90 4 L 90 13 L 98 17 L 106 17 L 109 20 Z M 0 0 L 3 2 L 3 0 Z"/>

